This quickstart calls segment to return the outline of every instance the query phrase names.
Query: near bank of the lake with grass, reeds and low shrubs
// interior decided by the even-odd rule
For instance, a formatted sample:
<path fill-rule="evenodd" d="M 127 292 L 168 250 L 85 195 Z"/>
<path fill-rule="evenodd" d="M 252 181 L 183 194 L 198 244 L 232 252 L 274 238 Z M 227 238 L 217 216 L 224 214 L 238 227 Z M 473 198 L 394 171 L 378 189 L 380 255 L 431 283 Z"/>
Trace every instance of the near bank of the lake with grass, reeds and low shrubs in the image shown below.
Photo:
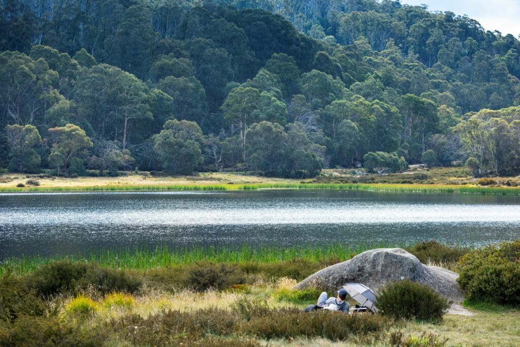
<path fill-rule="evenodd" d="M 499 305 L 467 303 L 441 322 L 301 311 L 321 290 L 293 290 L 297 281 L 368 248 L 158 249 L 93 253 L 82 258 L 89 263 L 54 267 L 42 267 L 44 259 L 26 259 L 25 267 L 11 262 L 18 273 L 0 276 L 0 298 L 7 305 L 0 305 L 0 345 L 520 343 L 520 311 Z M 445 261 L 461 252 L 434 242 L 408 249 Z"/>

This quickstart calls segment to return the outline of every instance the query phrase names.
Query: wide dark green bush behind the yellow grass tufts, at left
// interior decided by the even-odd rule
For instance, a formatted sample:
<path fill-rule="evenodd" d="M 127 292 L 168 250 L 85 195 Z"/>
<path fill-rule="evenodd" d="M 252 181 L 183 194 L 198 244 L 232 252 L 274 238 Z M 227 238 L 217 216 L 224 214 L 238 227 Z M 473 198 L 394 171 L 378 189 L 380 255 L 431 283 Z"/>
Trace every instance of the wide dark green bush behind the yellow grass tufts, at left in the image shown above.
<path fill-rule="evenodd" d="M 57 261 L 43 265 L 26 277 L 27 286 L 41 295 L 58 292 L 75 295 L 92 285 L 101 293 L 135 292 L 141 281 L 124 271 L 85 262 Z"/>

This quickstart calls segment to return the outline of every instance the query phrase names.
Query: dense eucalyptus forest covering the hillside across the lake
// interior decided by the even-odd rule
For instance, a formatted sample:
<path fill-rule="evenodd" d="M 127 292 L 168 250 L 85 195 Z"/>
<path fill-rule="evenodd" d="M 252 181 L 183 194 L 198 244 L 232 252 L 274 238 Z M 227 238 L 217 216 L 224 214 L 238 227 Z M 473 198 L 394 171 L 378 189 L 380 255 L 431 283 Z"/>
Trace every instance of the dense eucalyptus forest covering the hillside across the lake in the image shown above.
<path fill-rule="evenodd" d="M 382 0 L 0 2 L 0 168 L 520 173 L 520 41 Z"/>

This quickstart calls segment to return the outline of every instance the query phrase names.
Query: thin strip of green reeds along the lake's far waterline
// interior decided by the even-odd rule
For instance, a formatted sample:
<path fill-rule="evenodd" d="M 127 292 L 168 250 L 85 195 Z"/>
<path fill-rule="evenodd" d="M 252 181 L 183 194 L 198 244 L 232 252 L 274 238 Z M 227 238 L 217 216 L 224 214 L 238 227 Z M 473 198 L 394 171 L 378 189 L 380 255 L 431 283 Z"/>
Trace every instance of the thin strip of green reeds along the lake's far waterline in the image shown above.
<path fill-rule="evenodd" d="M 482 187 L 447 184 L 366 184 L 366 183 L 258 183 L 205 185 L 119 185 L 68 187 L 0 187 L 0 192 L 30 191 L 135 191 L 135 190 L 258 190 L 258 189 L 335 189 L 419 193 L 520 194 L 520 187 Z"/>

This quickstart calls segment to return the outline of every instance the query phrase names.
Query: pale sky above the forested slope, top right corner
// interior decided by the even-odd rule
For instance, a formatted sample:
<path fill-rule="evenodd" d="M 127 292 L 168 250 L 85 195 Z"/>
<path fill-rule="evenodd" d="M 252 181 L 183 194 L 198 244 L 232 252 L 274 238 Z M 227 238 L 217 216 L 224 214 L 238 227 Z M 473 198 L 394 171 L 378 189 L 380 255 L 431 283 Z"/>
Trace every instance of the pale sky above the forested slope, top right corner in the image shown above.
<path fill-rule="evenodd" d="M 485 30 L 520 35 L 520 0 L 401 0 L 401 4 L 425 4 L 431 11 L 452 11 L 475 19 Z"/>

